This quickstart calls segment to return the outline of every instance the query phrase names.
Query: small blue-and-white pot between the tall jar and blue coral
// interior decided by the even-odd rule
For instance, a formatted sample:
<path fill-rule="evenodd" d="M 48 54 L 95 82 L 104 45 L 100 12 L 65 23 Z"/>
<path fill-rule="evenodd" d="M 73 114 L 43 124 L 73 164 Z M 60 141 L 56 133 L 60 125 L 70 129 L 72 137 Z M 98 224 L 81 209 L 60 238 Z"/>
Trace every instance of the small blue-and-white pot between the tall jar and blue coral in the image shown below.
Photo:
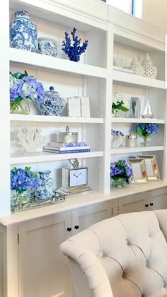
<path fill-rule="evenodd" d="M 38 38 L 38 52 L 47 56 L 57 57 L 56 40 L 47 37 Z"/>

